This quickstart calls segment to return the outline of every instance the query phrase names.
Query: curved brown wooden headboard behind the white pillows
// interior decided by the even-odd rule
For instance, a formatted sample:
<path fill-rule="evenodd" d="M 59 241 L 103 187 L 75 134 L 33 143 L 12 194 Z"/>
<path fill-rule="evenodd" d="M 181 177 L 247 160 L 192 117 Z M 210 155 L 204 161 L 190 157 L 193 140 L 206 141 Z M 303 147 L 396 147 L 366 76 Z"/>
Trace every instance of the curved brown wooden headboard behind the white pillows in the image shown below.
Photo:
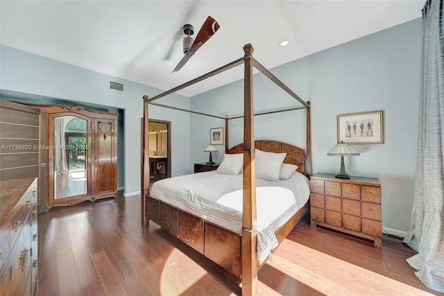
<path fill-rule="evenodd" d="M 284 159 L 285 164 L 298 166 L 299 173 L 305 174 L 305 150 L 287 143 L 272 140 L 255 141 L 255 149 L 273 153 L 287 153 Z M 230 149 L 229 154 L 244 153 L 244 143 L 240 143 Z"/>

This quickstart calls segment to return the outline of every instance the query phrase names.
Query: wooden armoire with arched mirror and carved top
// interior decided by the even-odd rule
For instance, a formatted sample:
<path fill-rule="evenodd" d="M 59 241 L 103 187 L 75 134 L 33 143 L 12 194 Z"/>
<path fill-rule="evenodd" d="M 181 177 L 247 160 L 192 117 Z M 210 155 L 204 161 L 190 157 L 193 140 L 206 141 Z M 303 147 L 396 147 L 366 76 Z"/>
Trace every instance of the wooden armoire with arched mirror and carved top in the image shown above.
<path fill-rule="evenodd" d="M 34 105 L 46 116 L 46 209 L 117 195 L 117 114 Z"/>

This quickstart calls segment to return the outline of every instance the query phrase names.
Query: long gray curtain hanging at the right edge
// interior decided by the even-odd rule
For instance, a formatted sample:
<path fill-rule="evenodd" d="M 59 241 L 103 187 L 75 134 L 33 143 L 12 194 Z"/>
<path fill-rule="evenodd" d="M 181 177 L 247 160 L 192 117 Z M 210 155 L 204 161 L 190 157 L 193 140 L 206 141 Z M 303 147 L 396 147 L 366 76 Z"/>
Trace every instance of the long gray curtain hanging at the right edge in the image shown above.
<path fill-rule="evenodd" d="M 407 259 L 429 288 L 444 292 L 444 36 L 443 0 L 422 8 L 418 157 Z"/>

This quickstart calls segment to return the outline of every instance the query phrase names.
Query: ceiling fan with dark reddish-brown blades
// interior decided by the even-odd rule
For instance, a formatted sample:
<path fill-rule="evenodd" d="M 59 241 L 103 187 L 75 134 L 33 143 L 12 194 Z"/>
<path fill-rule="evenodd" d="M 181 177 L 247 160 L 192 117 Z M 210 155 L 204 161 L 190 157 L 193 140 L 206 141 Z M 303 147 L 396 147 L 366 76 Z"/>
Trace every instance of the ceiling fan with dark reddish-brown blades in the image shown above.
<path fill-rule="evenodd" d="M 187 35 L 183 38 L 183 53 L 185 53 L 185 55 L 182 60 L 180 60 L 176 68 L 174 68 L 173 72 L 179 71 L 188 62 L 191 56 L 193 56 L 194 53 L 200 49 L 200 46 L 207 42 L 207 40 L 209 40 L 220 27 L 221 26 L 219 26 L 217 21 L 215 21 L 212 17 L 207 17 L 197 33 L 196 39 L 194 39 L 191 37 L 191 35 L 194 34 L 194 27 L 190 24 L 185 24 L 183 26 L 183 33 Z"/>

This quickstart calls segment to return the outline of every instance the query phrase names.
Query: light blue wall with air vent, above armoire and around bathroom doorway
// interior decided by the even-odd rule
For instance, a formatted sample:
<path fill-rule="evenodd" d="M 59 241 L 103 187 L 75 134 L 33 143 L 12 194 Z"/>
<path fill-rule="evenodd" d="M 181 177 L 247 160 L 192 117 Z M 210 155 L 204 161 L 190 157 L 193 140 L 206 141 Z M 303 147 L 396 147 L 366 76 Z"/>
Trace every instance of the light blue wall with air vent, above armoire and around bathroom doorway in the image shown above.
<path fill-rule="evenodd" d="M 0 47 L 0 77 L 0 89 L 2 90 L 123 109 L 124 192 L 125 195 L 139 193 L 142 96 L 145 94 L 155 96 L 162 92 L 160 89 L 89 71 L 3 45 Z M 110 89 L 110 80 L 123 83 L 124 92 Z M 157 102 L 189 109 L 189 98 L 178 94 L 173 94 Z M 156 106 L 150 107 L 149 110 L 149 118 L 171 121 L 172 175 L 190 173 L 189 114 Z"/>

